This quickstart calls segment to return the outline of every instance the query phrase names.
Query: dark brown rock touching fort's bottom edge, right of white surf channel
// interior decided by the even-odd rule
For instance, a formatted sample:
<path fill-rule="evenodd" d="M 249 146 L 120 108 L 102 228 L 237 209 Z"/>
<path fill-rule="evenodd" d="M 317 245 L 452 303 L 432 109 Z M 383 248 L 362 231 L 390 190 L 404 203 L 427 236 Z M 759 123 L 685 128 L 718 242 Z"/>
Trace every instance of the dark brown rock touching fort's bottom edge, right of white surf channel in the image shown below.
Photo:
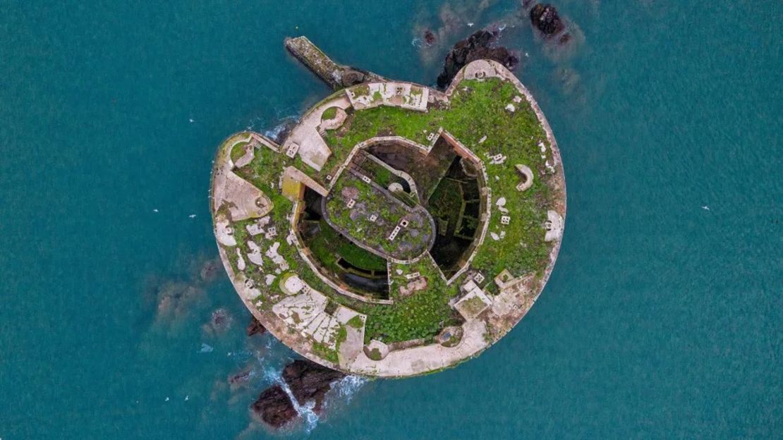
<path fill-rule="evenodd" d="M 313 411 L 319 413 L 323 405 L 323 397 L 331 389 L 335 380 L 345 377 L 344 373 L 320 366 L 309 360 L 295 360 L 283 370 L 283 380 L 288 384 L 291 394 L 299 405 L 315 401 Z"/>

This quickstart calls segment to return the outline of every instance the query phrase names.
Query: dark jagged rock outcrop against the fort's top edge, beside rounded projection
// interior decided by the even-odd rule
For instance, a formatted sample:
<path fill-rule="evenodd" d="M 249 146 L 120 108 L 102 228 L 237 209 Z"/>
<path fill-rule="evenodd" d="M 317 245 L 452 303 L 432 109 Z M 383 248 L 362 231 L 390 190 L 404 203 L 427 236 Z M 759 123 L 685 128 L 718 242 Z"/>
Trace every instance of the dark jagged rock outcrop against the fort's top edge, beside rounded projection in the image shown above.
<path fill-rule="evenodd" d="M 474 60 L 495 60 L 510 70 L 517 67 L 518 56 L 504 47 L 491 47 L 497 40 L 497 36 L 496 32 L 482 30 L 464 40 L 457 41 L 443 62 L 443 72 L 438 75 L 438 88 L 446 88 L 454 75 L 467 63 Z"/>

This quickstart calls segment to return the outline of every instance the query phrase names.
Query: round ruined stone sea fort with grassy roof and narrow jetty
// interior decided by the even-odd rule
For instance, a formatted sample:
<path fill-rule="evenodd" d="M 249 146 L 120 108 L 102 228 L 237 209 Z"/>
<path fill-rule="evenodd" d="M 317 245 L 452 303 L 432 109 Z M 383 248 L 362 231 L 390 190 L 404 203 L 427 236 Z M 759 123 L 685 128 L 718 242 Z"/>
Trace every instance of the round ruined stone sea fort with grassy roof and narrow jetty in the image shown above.
<path fill-rule="evenodd" d="M 218 149 L 211 211 L 240 298 L 346 373 L 477 356 L 536 302 L 560 248 L 565 179 L 536 101 L 490 60 L 441 92 L 287 45 L 337 92 L 281 142 L 240 132 Z"/>

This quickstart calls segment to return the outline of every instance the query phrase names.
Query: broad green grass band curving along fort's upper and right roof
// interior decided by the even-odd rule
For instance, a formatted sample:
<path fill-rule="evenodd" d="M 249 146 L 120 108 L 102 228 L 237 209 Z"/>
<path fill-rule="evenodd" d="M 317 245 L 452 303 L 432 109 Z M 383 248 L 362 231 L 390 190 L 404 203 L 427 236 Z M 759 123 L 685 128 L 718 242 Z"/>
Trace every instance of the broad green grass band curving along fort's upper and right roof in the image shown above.
<path fill-rule="evenodd" d="M 330 132 L 325 140 L 332 150 L 347 151 L 358 142 L 392 133 L 426 144 L 427 133 L 442 127 L 478 157 L 485 159 L 496 153 L 507 155 L 503 164 L 487 162 L 487 183 L 493 197 L 506 198 L 511 226 L 501 225 L 500 215 L 493 211 L 488 234 L 505 231 L 506 236 L 498 242 L 488 237 L 489 242 L 478 249 L 472 264 L 490 274 L 505 268 L 515 274 L 537 272 L 540 275 L 547 266 L 551 248 L 551 243 L 543 241 L 542 227 L 550 207 L 549 187 L 536 176 L 530 189 L 518 192 L 515 187 L 519 175 L 514 164 L 526 164 L 534 170 L 545 169 L 544 161 L 551 160 L 551 150 L 546 133 L 527 100 L 514 103 L 517 107 L 514 113 L 505 110 L 514 96 L 521 94 L 509 82 L 494 78 L 463 81 L 451 97 L 449 107 L 431 108 L 427 113 L 390 106 L 357 111 L 348 132 Z M 479 143 L 483 136 L 486 136 L 485 141 Z M 546 153 L 539 150 L 539 142 L 547 146 Z"/>

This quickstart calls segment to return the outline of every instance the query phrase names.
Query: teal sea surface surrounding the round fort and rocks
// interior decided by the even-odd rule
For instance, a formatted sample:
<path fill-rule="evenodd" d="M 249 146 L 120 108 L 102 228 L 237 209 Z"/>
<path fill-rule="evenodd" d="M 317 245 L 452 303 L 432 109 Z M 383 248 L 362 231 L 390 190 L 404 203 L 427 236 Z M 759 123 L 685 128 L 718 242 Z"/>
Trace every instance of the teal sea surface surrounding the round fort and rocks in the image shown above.
<path fill-rule="evenodd" d="M 783 3 L 555 5 L 571 49 L 512 1 L 0 2 L 0 438 L 781 438 Z M 200 274 L 218 143 L 326 96 L 286 36 L 433 85 L 482 27 L 561 148 L 550 282 L 478 359 L 266 431 L 295 355 Z"/>

